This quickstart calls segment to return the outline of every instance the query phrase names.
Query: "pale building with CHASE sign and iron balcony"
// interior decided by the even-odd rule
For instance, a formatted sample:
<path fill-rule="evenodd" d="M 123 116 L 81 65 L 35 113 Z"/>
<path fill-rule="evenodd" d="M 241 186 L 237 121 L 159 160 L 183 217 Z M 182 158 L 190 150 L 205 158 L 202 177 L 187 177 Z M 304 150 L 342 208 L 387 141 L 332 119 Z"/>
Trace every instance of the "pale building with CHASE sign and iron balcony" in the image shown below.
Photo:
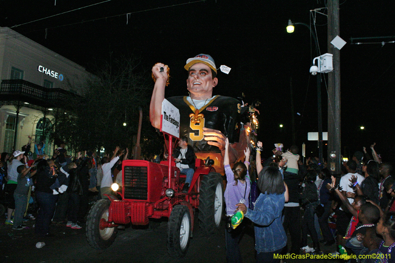
<path fill-rule="evenodd" d="M 67 58 L 0 27 L 0 152 L 21 150 L 32 136 L 52 155 L 47 129 L 55 116 L 67 114 L 67 96 L 81 95 L 90 76 Z"/>

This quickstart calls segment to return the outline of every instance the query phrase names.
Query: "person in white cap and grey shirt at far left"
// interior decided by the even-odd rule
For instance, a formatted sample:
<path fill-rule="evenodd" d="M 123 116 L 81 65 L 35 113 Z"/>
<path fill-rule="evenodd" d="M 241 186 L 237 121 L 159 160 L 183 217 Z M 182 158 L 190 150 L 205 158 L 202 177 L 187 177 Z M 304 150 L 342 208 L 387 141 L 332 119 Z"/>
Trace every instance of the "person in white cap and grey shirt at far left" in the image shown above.
<path fill-rule="evenodd" d="M 25 160 L 25 166 L 27 166 L 27 160 L 26 157 L 23 155 L 25 152 L 16 150 L 12 153 L 11 158 L 9 159 L 9 162 L 11 165 L 8 166 L 8 182 L 7 182 L 7 195 L 6 198 L 9 202 L 8 205 L 8 211 L 7 211 L 7 220 L 5 221 L 5 225 L 13 225 L 11 221 L 11 215 L 12 212 L 15 209 L 15 200 L 14 200 L 14 190 L 16 189 L 16 186 L 18 184 L 18 171 L 17 168 L 20 165 L 23 165 L 21 160 L 24 158 Z"/>

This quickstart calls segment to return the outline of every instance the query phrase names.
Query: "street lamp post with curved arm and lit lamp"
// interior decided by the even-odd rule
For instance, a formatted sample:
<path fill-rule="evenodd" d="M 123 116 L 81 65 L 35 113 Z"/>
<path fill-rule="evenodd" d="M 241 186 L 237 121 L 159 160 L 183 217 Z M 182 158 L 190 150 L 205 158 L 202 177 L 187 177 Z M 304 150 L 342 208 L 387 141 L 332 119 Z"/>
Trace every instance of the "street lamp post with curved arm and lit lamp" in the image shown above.
<path fill-rule="evenodd" d="M 314 42 L 316 43 L 316 55 L 319 56 L 318 51 L 318 40 L 311 27 L 305 23 L 292 23 L 291 19 L 288 20 L 287 32 L 294 32 L 294 25 L 303 25 L 307 27 L 310 31 L 310 35 L 313 37 Z M 317 113 L 318 113 L 318 158 L 319 163 L 322 162 L 322 108 L 321 108 L 321 75 L 317 74 Z"/>

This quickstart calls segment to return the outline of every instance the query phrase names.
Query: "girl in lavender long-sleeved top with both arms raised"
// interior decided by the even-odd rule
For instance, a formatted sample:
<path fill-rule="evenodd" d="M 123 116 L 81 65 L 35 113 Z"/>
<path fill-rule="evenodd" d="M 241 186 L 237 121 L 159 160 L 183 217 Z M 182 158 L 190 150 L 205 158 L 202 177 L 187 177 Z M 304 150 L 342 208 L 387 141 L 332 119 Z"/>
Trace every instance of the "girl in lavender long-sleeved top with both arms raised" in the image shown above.
<path fill-rule="evenodd" d="M 226 203 L 226 215 L 228 217 L 233 216 L 236 204 L 240 203 L 241 199 L 244 199 L 244 204 L 248 207 L 248 195 L 250 193 L 251 183 L 248 175 L 248 165 L 250 150 L 246 148 L 244 150 L 245 161 L 237 162 L 231 169 L 229 165 L 229 140 L 225 140 L 225 156 L 224 156 L 224 168 L 226 179 L 228 181 L 225 189 L 225 203 Z M 244 228 L 246 220 L 243 220 L 236 229 L 231 232 L 225 230 L 225 243 L 226 243 L 226 261 L 229 262 L 242 262 L 238 241 L 240 239 L 242 230 Z"/>

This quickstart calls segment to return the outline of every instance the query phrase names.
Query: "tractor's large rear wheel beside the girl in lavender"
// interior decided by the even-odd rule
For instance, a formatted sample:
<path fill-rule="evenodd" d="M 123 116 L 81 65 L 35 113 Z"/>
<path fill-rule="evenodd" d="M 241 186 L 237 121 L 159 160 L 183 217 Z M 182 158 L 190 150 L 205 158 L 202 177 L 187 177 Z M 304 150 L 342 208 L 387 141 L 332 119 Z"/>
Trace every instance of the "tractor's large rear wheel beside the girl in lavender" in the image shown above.
<path fill-rule="evenodd" d="M 203 234 L 214 234 L 224 211 L 223 180 L 219 173 L 203 175 L 199 190 L 199 226 Z"/>

